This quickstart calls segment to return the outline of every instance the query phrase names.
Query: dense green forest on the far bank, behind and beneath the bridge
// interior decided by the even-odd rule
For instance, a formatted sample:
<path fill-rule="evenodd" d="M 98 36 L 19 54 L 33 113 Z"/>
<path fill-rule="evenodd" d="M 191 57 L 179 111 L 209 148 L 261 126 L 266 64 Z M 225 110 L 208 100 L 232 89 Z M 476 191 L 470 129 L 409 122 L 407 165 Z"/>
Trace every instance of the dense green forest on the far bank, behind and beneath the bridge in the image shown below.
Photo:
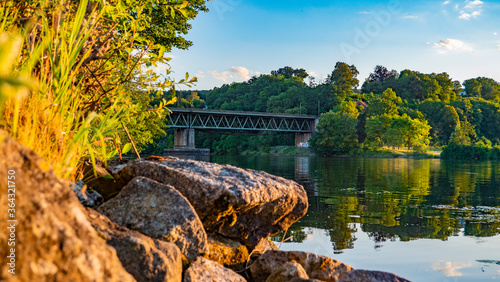
<path fill-rule="evenodd" d="M 359 87 L 358 74 L 354 65 L 343 62 L 323 80 L 304 69 L 284 67 L 211 91 L 178 92 L 176 106 L 320 115 L 310 146 L 321 155 L 384 148 L 425 152 L 429 146 L 445 147 L 448 157 L 497 155 L 492 148 L 500 144 L 500 84 L 495 80 L 478 77 L 460 83 L 447 73 L 389 71 L 379 65 Z M 197 132 L 196 142 L 216 154 L 240 154 L 293 146 L 294 137 Z"/>

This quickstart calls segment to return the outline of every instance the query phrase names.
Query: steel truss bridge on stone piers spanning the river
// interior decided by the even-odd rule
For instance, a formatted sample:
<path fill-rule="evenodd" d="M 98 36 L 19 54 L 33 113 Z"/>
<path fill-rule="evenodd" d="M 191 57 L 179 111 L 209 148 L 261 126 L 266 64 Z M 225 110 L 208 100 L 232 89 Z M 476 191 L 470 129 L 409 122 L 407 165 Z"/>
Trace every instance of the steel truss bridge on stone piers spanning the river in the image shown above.
<path fill-rule="evenodd" d="M 170 108 L 166 124 L 175 128 L 174 147 L 194 148 L 194 130 L 225 134 L 295 133 L 296 144 L 316 131 L 317 116 Z"/>

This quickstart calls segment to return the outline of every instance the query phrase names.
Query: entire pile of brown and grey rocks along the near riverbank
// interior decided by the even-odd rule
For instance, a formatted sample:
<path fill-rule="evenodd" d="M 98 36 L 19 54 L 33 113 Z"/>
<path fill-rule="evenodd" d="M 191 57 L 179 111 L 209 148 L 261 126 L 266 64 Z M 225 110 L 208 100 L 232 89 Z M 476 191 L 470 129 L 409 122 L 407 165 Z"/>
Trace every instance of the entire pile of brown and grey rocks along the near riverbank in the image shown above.
<path fill-rule="evenodd" d="M 306 192 L 293 181 L 175 158 L 108 165 L 98 170 L 106 176 L 102 182 L 87 183 L 104 203 L 85 208 L 70 183 L 0 131 L 0 179 L 15 171 L 19 195 L 16 275 L 0 248 L 0 280 L 408 281 L 279 251 L 267 238 L 307 212 Z M 5 181 L 0 189 L 7 191 Z M 5 193 L 0 202 L 7 206 Z M 0 221 L 7 220 L 0 213 Z M 0 242 L 8 235 L 0 232 Z"/>

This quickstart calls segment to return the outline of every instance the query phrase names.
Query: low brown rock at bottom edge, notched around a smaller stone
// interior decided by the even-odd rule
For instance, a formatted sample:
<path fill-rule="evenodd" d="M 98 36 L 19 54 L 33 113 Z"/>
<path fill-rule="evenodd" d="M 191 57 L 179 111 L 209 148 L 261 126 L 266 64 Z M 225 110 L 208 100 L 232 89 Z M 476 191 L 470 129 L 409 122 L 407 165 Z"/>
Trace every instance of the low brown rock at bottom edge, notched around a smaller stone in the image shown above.
<path fill-rule="evenodd" d="M 337 281 L 341 275 L 353 269 L 332 258 L 312 253 L 267 251 L 250 266 L 250 272 L 255 281 L 266 281 L 283 264 L 291 261 L 302 265 L 309 278 L 322 281 Z"/>

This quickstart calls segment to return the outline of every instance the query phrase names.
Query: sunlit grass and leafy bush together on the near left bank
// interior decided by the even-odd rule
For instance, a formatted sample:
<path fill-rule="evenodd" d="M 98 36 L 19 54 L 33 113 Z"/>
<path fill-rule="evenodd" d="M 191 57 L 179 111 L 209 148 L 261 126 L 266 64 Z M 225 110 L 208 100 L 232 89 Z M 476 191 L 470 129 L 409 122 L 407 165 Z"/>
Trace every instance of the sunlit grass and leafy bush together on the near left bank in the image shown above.
<path fill-rule="evenodd" d="M 84 158 L 94 162 L 97 157 L 112 157 L 120 147 L 126 151 L 130 145 L 119 135 L 127 123 L 137 128 L 137 139 L 141 139 L 139 131 L 146 132 L 139 146 L 161 133 L 152 124 L 159 121 L 153 115 L 164 116 L 167 101 L 153 108 L 148 95 L 176 83 L 162 79 L 149 67 L 168 62 L 164 53 L 169 46 L 145 35 L 153 28 L 154 17 L 144 11 L 152 11 L 154 4 L 136 1 L 134 9 L 128 9 L 131 3 L 38 0 L 0 4 L 0 33 L 24 36 L 17 48 L 19 56 L 13 53 L 16 65 L 8 76 L 29 77 L 33 82 L 23 99 L 16 95 L 5 101 L 0 127 L 44 157 L 62 178 L 77 177 L 77 164 Z M 168 9 L 157 9 L 156 15 L 168 10 L 164 25 L 182 22 L 179 17 L 190 17 L 188 4 L 170 3 Z M 186 76 L 179 83 L 195 81 Z"/>

